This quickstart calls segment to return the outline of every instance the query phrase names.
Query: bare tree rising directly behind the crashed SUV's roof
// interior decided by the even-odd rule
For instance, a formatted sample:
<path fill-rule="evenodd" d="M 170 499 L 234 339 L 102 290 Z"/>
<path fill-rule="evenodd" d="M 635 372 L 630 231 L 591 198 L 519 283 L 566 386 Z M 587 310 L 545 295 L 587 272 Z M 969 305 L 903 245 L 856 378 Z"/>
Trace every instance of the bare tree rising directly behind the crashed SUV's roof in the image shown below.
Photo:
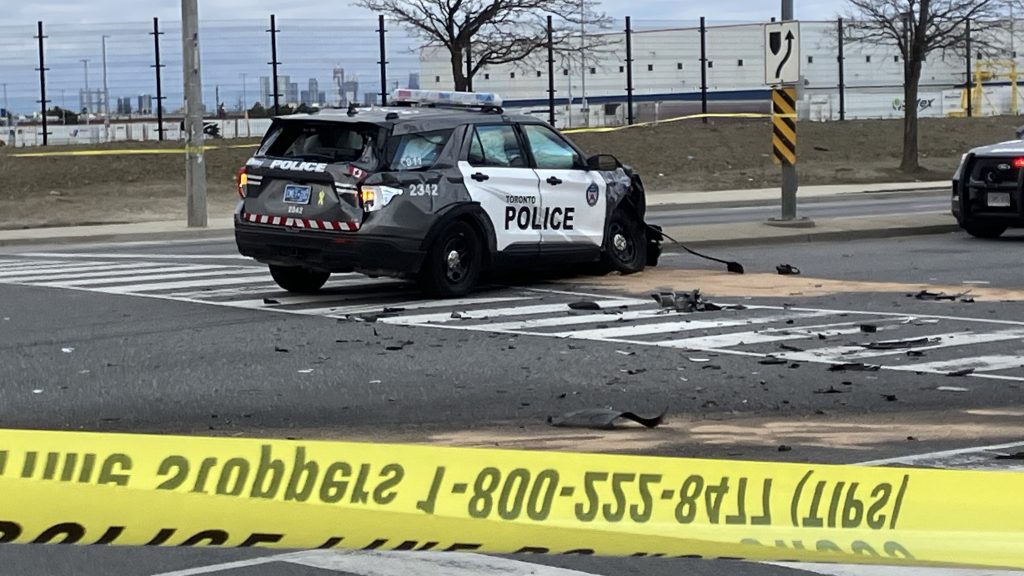
<path fill-rule="evenodd" d="M 581 25 L 604 28 L 610 18 L 595 0 L 356 0 L 387 14 L 423 40 L 447 50 L 456 90 L 467 90 L 483 67 L 520 61 L 547 46 L 547 15 L 555 16 L 553 43 L 579 49 Z M 570 39 L 575 36 L 577 46 Z M 467 50 L 472 47 L 467 70 Z"/>

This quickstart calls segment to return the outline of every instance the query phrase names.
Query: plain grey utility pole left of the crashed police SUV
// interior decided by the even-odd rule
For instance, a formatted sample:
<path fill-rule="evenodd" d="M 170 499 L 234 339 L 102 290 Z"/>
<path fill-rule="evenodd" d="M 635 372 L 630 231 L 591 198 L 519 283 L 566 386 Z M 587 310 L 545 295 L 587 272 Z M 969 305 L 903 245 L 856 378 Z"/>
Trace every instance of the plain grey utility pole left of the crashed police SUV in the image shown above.
<path fill-rule="evenodd" d="M 181 52 L 185 93 L 185 207 L 188 228 L 205 228 L 206 163 L 203 162 L 203 84 L 197 0 L 181 0 Z"/>

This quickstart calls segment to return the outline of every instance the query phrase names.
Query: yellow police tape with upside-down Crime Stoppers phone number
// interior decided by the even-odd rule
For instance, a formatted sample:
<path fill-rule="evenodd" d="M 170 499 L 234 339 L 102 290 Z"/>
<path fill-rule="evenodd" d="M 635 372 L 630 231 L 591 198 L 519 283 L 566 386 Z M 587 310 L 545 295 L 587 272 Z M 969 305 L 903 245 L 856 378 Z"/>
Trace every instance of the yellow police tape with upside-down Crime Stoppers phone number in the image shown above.
<path fill-rule="evenodd" d="M 0 543 L 1024 568 L 1024 475 L 0 430 Z"/>

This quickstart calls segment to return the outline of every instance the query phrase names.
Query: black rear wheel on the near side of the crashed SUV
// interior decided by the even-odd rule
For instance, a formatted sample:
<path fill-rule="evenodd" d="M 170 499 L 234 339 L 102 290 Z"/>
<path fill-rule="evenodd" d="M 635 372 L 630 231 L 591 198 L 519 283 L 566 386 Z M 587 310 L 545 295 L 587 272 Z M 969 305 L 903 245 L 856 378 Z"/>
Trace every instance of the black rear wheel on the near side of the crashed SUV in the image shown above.
<path fill-rule="evenodd" d="M 427 251 L 420 285 L 432 296 L 465 296 L 480 278 L 482 244 L 473 227 L 464 221 L 447 224 Z"/>

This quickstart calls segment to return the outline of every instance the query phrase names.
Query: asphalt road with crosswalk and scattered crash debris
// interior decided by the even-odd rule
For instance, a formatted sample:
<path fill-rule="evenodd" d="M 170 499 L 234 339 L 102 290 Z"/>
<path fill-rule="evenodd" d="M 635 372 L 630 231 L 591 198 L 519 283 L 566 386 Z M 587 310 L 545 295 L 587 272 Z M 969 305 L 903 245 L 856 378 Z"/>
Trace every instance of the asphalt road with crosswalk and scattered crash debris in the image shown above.
<path fill-rule="evenodd" d="M 742 261 L 748 275 L 669 253 L 657 270 L 621 283 L 503 278 L 461 302 L 358 276 L 295 298 L 236 256 L 230 241 L 9 248 L 0 251 L 0 422 L 822 463 L 1021 442 L 1020 248 L 1019 237 L 963 234 L 709 248 Z M 775 275 L 782 262 L 803 274 Z M 908 297 L 918 285 L 963 287 L 975 301 Z M 652 286 L 702 288 L 742 308 L 659 312 Z M 567 308 L 579 300 L 604 310 Z M 872 347 L 889 341 L 904 343 Z M 879 369 L 829 370 L 841 361 Z M 963 368 L 974 371 L 949 375 Z M 669 421 L 582 438 L 546 423 L 602 406 L 667 408 Z M 932 464 L 1010 469 L 991 452 Z M 40 576 L 371 574 L 385 571 L 368 563 L 389 562 L 213 549 L 0 554 L 0 573 Z M 460 562 L 480 574 L 571 574 L 543 566 L 608 576 L 838 574 L 693 560 L 508 561 Z"/>

